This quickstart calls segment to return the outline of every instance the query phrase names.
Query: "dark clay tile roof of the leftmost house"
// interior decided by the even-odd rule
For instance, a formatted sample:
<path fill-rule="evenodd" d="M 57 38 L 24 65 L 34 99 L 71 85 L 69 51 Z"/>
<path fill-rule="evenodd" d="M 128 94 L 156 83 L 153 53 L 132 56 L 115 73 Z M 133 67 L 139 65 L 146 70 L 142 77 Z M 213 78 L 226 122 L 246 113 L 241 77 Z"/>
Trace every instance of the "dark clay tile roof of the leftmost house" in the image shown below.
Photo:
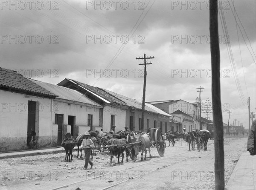
<path fill-rule="evenodd" d="M 47 89 L 44 89 L 38 84 L 30 81 L 23 75 L 10 69 L 4 69 L 2 67 L 0 67 L 0 89 L 8 89 L 15 92 L 48 98 L 55 98 L 58 96 L 52 92 L 49 92 Z"/>

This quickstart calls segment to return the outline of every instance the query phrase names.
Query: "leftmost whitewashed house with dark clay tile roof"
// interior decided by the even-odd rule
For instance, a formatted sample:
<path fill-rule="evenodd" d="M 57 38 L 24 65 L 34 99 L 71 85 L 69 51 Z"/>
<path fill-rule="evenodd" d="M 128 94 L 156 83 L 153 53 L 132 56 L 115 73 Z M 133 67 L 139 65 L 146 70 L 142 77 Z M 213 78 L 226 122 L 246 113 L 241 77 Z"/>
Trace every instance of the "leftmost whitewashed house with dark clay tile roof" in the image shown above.
<path fill-rule="evenodd" d="M 56 98 L 15 71 L 0 68 L 0 151 L 27 149 L 35 131 L 41 145 L 52 138 L 51 105 Z"/>

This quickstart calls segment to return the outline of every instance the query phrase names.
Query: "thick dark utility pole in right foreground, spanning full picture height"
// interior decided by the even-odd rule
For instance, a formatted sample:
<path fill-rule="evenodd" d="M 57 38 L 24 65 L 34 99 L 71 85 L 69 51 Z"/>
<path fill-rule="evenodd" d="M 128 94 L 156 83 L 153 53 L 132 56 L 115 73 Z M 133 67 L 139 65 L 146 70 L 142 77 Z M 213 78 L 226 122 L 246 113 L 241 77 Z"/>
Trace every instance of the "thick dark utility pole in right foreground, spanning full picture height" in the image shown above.
<path fill-rule="evenodd" d="M 210 0 L 210 40 L 212 62 L 212 111 L 214 126 L 215 190 L 224 190 L 224 139 L 221 110 L 220 49 L 218 40 L 218 1 Z"/>

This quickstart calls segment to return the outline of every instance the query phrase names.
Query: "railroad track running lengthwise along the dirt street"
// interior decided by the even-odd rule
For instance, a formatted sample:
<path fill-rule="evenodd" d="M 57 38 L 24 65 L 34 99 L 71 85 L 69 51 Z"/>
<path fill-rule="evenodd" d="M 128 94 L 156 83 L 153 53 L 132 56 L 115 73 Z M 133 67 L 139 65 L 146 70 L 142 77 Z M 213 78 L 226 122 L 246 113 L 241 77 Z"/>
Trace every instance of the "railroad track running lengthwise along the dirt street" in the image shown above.
<path fill-rule="evenodd" d="M 116 169 L 116 167 L 109 167 L 107 169 L 112 171 L 105 171 L 104 173 L 100 174 L 92 171 L 87 171 L 86 179 L 76 181 L 70 184 L 65 184 L 60 187 L 55 187 L 52 190 L 76 189 L 76 187 L 81 187 L 83 189 L 106 190 L 118 185 L 123 185 L 125 182 L 131 180 L 143 180 L 145 175 L 149 173 L 153 173 L 154 171 L 178 164 L 182 161 L 186 161 L 189 158 L 193 158 L 204 153 L 205 152 L 196 153 L 195 151 L 186 151 L 175 155 L 160 157 L 158 159 L 148 159 L 147 161 L 143 162 L 132 163 L 130 161 L 127 163 L 127 165 L 132 165 L 130 167 L 122 168 L 118 171 L 113 171 L 113 169 Z M 180 159 L 180 156 L 182 156 L 182 159 Z M 139 160 L 138 158 L 140 158 L 140 154 L 137 157 L 137 161 Z M 90 183 L 89 181 L 91 180 L 97 180 L 97 183 L 95 183 L 94 181 L 93 183 Z M 109 185 L 110 182 L 111 185 Z"/>

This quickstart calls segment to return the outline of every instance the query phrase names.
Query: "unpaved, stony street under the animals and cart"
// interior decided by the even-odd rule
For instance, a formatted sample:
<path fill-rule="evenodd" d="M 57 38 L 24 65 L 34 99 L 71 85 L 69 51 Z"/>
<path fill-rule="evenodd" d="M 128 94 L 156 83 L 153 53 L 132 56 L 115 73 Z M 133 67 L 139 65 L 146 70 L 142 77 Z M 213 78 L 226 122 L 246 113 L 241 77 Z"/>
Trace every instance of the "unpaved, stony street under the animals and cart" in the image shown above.
<path fill-rule="evenodd" d="M 225 136 L 225 182 L 227 183 L 236 162 L 245 150 L 247 137 Z M 169 143 L 167 143 L 169 145 Z M 151 149 L 153 158 L 109 167 L 109 156 L 97 153 L 93 157 L 93 169 L 84 170 L 84 160 L 74 158 L 64 161 L 64 153 L 9 158 L 0 161 L 3 189 L 213 189 L 214 146 L 208 141 L 208 150 L 198 153 L 188 151 L 185 142 L 177 141 L 175 147 L 166 147 L 160 157 L 156 148 Z M 73 153 L 76 154 L 75 152 Z M 78 182 L 78 183 L 76 183 Z M 74 183 L 74 184 L 72 184 Z"/>

